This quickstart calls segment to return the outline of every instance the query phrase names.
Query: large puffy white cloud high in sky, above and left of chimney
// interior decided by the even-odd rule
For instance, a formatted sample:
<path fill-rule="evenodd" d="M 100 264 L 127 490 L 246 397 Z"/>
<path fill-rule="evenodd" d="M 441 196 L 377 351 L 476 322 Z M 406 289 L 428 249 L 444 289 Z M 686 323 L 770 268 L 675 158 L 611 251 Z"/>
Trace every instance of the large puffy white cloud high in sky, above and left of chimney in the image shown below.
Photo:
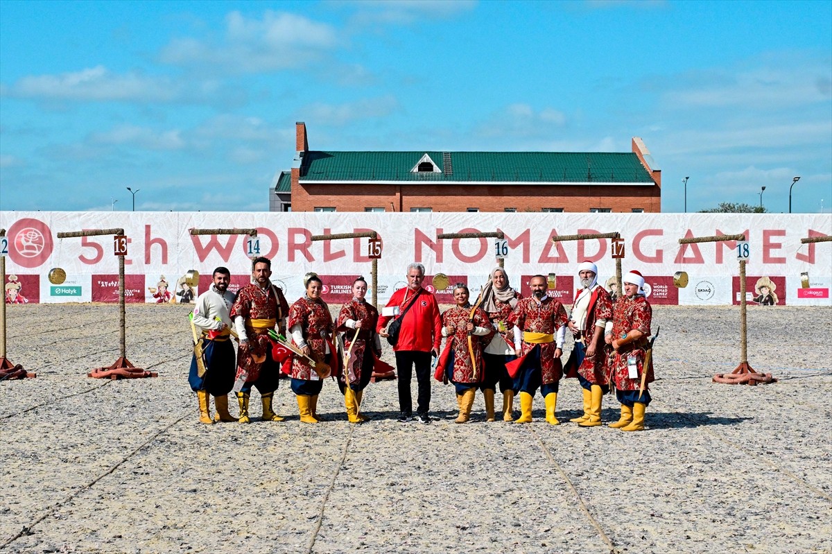
<path fill-rule="evenodd" d="M 266 11 L 262 19 L 251 19 L 230 12 L 223 40 L 179 38 L 162 49 L 160 59 L 225 72 L 268 72 L 301 67 L 338 42 L 334 27 L 294 13 Z"/>

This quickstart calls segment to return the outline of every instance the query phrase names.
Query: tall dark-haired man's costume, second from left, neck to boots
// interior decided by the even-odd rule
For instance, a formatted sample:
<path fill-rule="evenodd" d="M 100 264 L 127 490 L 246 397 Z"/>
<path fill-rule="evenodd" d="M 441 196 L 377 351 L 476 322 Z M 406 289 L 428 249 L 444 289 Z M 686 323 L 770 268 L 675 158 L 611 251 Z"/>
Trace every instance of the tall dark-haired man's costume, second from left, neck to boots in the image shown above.
<path fill-rule="evenodd" d="M 274 284 L 261 289 L 259 284 L 246 284 L 237 292 L 231 306 L 240 347 L 237 349 L 237 377 L 247 374 L 245 384 L 237 393 L 240 403 L 240 423 L 249 423 L 249 397 L 251 386 L 260 392 L 264 421 L 282 421 L 271 409 L 272 398 L 280 384 L 280 364 L 272 357 L 269 329 L 284 328 L 289 304 L 283 292 Z M 247 341 L 246 348 L 242 343 Z M 265 360 L 264 360 L 265 356 Z M 258 361 L 260 360 L 260 361 Z"/>

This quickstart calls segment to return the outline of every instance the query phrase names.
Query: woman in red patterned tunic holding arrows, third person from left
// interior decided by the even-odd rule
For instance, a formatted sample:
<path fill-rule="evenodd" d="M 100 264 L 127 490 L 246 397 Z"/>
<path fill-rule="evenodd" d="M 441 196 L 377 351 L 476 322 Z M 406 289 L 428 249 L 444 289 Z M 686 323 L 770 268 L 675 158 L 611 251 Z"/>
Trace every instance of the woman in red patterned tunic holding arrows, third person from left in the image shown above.
<path fill-rule="evenodd" d="M 326 362 L 334 350 L 329 340 L 333 332 L 332 315 L 329 314 L 329 306 L 320 299 L 323 283 L 319 277 L 312 275 L 305 284 L 306 295 L 289 309 L 289 332 L 292 341 L 305 355 Z M 300 421 L 319 423 L 317 407 L 318 395 L 324 385 L 322 377 L 301 356 L 292 360 L 291 377 L 292 391 L 298 398 Z"/>

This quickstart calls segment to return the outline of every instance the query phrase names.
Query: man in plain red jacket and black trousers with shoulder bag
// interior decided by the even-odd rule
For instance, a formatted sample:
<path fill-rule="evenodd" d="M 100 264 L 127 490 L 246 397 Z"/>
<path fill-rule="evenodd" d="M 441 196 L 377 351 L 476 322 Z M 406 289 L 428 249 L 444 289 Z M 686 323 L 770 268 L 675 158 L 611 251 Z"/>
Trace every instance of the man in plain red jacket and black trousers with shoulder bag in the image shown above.
<path fill-rule="evenodd" d="M 399 341 L 393 347 L 396 353 L 396 369 L 399 371 L 399 422 L 407 423 L 413 419 L 413 399 L 410 394 L 410 379 L 413 367 L 416 367 L 418 398 L 416 413 L 419 423 L 430 423 L 430 357 L 438 356 L 439 344 L 442 342 L 442 319 L 439 306 L 433 294 L 422 288 L 424 266 L 413 263 L 408 265 L 408 286 L 399 289 L 390 297 L 387 307 L 399 307 L 401 327 Z M 407 313 L 405 313 L 407 309 Z M 377 330 L 382 337 L 387 337 L 387 324 L 390 316 L 379 317 Z"/>

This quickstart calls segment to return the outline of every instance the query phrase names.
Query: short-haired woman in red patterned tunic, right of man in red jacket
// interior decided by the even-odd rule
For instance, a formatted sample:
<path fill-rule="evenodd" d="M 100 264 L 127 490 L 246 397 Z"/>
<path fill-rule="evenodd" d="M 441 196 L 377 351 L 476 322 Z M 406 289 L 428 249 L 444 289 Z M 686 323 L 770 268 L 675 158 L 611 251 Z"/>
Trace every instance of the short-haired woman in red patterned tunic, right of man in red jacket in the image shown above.
<path fill-rule="evenodd" d="M 488 314 L 479 308 L 471 314 L 468 296 L 468 287 L 457 283 L 453 288 L 453 299 L 457 305 L 442 314 L 442 336 L 447 340 L 439 367 L 443 370 L 443 380 L 447 378 L 457 389 L 459 416 L 456 423 L 465 423 L 470 418 L 474 391 L 485 372 L 483 346 L 494 334 Z M 468 351 L 469 336 L 473 363 Z"/>

